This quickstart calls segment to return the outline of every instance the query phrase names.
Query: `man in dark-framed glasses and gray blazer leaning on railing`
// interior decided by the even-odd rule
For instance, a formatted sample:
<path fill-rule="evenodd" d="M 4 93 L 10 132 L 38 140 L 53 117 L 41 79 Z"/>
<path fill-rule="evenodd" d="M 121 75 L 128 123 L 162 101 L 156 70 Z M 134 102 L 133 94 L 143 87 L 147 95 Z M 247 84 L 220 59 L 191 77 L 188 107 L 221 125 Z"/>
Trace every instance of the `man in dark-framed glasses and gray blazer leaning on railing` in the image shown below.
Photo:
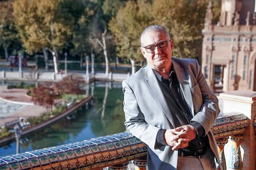
<path fill-rule="evenodd" d="M 147 66 L 122 82 L 125 125 L 148 147 L 148 169 L 216 169 L 211 127 L 220 112 L 197 60 L 172 58 L 163 26 L 140 38 Z"/>

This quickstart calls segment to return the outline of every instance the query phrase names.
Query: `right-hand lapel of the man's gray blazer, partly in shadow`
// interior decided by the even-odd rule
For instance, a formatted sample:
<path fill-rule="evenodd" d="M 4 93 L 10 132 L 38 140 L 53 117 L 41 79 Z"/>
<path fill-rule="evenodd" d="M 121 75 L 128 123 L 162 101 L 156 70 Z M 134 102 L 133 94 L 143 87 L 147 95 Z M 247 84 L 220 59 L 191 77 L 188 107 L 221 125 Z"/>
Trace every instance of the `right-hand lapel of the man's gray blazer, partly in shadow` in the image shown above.
<path fill-rule="evenodd" d="M 192 95 L 191 95 L 191 91 L 190 91 L 189 76 L 185 75 L 185 71 L 183 70 L 183 68 L 178 63 L 176 63 L 174 60 L 173 60 L 173 67 L 174 67 L 174 71 L 177 75 L 179 84 L 181 86 L 181 90 L 184 94 L 184 98 L 189 106 L 189 109 L 190 109 L 192 115 L 194 115 L 194 104 L 193 104 Z"/>

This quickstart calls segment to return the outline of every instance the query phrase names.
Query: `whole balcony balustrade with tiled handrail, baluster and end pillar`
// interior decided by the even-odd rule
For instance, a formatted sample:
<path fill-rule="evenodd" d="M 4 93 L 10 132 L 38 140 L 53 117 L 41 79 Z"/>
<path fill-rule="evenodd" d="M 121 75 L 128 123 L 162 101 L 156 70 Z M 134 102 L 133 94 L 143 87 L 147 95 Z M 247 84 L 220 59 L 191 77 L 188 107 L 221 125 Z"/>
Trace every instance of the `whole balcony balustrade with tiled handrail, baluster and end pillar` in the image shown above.
<path fill-rule="evenodd" d="M 220 166 L 223 169 L 255 169 L 256 94 L 245 92 L 241 95 L 237 91 L 220 97 L 224 112 L 227 112 L 226 107 L 233 110 L 219 115 L 212 128 Z M 0 157 L 0 169 L 126 169 L 131 161 L 135 168 L 146 169 L 146 155 L 147 146 L 143 142 L 129 132 L 122 132 L 3 156 Z"/>

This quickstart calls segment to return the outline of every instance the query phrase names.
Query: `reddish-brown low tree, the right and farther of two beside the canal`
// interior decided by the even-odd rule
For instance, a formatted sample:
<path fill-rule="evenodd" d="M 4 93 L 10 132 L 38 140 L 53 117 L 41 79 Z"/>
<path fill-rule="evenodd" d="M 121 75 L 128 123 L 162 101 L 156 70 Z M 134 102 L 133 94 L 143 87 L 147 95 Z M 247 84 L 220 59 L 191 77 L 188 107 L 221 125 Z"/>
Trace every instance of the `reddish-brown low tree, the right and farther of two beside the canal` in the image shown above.
<path fill-rule="evenodd" d="M 85 90 L 82 89 L 82 84 L 85 83 L 83 76 L 72 73 L 65 76 L 61 81 L 56 84 L 60 94 L 85 94 Z"/>

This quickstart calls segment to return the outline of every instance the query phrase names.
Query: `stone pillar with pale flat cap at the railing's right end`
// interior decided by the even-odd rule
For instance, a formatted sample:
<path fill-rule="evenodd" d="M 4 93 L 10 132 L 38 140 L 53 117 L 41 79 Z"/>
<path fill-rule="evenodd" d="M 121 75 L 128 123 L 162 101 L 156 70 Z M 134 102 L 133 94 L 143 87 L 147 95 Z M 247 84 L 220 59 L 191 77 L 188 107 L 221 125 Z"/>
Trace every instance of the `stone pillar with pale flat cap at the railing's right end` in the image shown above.
<path fill-rule="evenodd" d="M 250 125 L 245 129 L 240 147 L 242 153 L 242 169 L 256 169 L 256 139 L 254 134 L 254 119 L 256 116 L 255 91 L 229 91 L 220 94 L 223 101 L 223 113 L 243 113 L 250 119 Z"/>

